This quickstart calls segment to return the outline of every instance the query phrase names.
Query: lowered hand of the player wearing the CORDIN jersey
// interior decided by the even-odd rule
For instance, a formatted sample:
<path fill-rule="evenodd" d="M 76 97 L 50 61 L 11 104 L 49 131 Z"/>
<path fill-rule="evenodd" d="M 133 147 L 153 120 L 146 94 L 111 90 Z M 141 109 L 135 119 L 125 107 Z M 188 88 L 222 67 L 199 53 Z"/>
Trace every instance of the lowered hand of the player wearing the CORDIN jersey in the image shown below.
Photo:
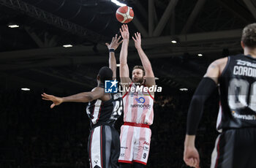
<path fill-rule="evenodd" d="M 185 146 L 183 160 L 189 167 L 200 168 L 199 153 L 195 147 Z"/>

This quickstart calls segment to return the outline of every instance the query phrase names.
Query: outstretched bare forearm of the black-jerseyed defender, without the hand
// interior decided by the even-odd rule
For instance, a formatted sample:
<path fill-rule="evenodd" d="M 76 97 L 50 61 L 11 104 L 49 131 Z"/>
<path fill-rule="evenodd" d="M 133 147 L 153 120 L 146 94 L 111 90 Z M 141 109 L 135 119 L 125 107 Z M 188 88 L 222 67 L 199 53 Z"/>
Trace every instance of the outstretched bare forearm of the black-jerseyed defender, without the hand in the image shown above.
<path fill-rule="evenodd" d="M 94 98 L 88 92 L 74 94 L 72 96 L 62 97 L 63 102 L 91 102 Z"/>

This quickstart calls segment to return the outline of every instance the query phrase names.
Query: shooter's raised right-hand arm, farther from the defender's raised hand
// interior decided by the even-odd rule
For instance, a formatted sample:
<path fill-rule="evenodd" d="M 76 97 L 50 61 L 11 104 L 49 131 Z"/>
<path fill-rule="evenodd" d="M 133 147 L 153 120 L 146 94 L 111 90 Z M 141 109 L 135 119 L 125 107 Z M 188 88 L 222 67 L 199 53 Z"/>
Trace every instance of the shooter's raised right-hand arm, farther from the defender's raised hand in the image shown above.
<path fill-rule="evenodd" d="M 133 41 L 135 42 L 135 48 L 138 51 L 138 54 L 140 56 L 140 61 L 142 62 L 142 65 L 146 72 L 146 85 L 148 87 L 155 85 L 156 81 L 154 79 L 154 72 L 151 66 L 151 63 L 146 56 L 146 53 L 144 53 L 142 47 L 141 47 L 141 36 L 140 33 L 135 33 L 135 37 L 132 37 Z"/>

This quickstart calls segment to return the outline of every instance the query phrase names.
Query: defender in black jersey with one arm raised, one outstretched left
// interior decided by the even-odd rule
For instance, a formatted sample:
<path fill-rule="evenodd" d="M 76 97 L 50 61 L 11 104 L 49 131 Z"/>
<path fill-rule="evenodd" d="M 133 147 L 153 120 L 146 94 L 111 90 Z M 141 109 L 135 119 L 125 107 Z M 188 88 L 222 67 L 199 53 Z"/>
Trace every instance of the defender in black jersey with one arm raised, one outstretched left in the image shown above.
<path fill-rule="evenodd" d="M 110 45 L 109 64 L 99 69 L 97 87 L 90 92 L 78 93 L 67 97 L 42 94 L 42 99 L 52 101 L 51 108 L 62 102 L 89 102 L 86 112 L 91 122 L 88 150 L 91 168 L 118 167 L 120 141 L 118 131 L 113 127 L 123 111 L 121 93 L 105 93 L 105 80 L 116 78 L 116 58 L 114 50 L 121 44 L 121 37 L 113 37 Z"/>

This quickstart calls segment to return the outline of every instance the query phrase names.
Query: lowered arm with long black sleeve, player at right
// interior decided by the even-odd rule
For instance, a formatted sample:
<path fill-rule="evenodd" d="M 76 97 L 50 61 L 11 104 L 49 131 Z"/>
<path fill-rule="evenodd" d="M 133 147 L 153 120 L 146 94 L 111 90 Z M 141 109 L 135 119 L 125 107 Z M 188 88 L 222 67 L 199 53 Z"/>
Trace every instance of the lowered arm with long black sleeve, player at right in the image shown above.
<path fill-rule="evenodd" d="M 218 78 L 227 64 L 227 58 L 222 58 L 208 66 L 206 75 L 200 81 L 192 97 L 187 114 L 187 134 L 184 142 L 184 161 L 190 167 L 199 167 L 200 157 L 195 148 L 195 134 L 200 118 L 203 114 L 203 106 L 211 93 L 217 88 Z"/>

